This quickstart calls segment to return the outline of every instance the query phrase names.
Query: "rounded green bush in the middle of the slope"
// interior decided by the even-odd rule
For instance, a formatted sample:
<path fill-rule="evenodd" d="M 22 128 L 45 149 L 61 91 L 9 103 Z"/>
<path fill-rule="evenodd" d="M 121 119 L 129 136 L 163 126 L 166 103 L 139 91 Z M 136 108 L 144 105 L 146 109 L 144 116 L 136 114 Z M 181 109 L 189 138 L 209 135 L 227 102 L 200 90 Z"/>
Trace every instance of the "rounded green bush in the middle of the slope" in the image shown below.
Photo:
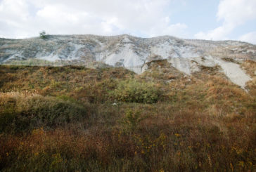
<path fill-rule="evenodd" d="M 160 97 L 160 89 L 153 83 L 129 79 L 120 81 L 113 94 L 122 102 L 155 103 Z"/>

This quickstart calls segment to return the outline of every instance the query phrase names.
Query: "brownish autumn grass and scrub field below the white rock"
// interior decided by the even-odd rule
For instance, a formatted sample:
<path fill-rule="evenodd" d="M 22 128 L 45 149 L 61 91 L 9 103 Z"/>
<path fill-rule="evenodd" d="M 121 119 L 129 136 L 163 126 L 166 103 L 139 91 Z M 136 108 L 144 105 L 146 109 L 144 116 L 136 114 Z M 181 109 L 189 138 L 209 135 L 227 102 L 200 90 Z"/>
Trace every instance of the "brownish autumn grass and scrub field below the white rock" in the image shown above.
<path fill-rule="evenodd" d="M 0 171 L 255 171 L 255 77 L 165 65 L 0 66 Z"/>

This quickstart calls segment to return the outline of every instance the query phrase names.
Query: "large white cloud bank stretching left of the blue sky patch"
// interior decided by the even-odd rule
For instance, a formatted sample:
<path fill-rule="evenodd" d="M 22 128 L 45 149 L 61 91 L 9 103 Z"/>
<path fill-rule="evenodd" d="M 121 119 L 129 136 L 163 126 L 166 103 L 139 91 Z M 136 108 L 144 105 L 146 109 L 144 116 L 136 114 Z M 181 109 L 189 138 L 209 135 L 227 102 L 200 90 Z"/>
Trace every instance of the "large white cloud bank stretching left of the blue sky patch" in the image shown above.
<path fill-rule="evenodd" d="M 49 34 L 170 34 L 184 37 L 186 25 L 172 24 L 172 0 L 3 0 L 0 37 Z"/>

